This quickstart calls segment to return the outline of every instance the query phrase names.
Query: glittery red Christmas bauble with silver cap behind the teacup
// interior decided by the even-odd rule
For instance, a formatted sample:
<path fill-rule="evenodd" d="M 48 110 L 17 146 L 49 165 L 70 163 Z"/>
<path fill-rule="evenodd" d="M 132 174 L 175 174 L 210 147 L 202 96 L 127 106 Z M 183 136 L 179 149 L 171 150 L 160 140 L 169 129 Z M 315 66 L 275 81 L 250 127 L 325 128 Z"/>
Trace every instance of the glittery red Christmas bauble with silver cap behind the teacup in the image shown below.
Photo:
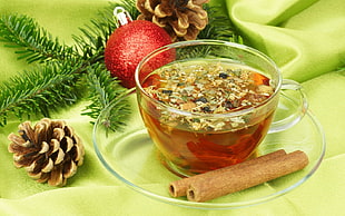
<path fill-rule="evenodd" d="M 118 12 L 119 11 L 119 12 Z M 121 80 L 126 88 L 135 87 L 135 70 L 140 60 L 165 45 L 171 43 L 170 36 L 157 24 L 145 21 L 132 21 L 122 8 L 115 9 L 119 27 L 110 36 L 105 49 L 105 62 L 112 77 Z M 156 68 L 169 62 L 171 58 L 158 56 Z"/>

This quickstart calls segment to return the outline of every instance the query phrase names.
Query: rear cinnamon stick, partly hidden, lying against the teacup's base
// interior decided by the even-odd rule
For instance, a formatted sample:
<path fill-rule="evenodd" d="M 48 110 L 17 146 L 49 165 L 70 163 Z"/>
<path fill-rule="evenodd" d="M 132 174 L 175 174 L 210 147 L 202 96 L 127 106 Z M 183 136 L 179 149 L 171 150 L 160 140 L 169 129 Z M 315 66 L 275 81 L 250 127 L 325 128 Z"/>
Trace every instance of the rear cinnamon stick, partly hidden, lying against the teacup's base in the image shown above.
<path fill-rule="evenodd" d="M 252 166 L 254 164 L 262 164 L 264 161 L 270 160 L 270 159 L 276 158 L 276 157 L 282 157 L 284 155 L 286 155 L 285 150 L 279 149 L 279 150 L 276 150 L 274 153 L 270 153 L 270 154 L 257 157 L 257 158 L 253 158 L 253 159 L 243 161 L 243 163 L 237 164 L 237 165 L 224 167 L 220 169 L 215 169 L 211 171 L 207 171 L 205 174 L 191 176 L 189 178 L 181 178 L 179 180 L 175 180 L 175 181 L 169 184 L 169 193 L 172 197 L 186 196 L 187 190 L 189 188 L 189 185 L 194 181 L 200 180 L 201 178 L 206 178 L 207 176 L 214 177 L 214 176 L 217 176 L 217 174 L 227 173 L 227 171 L 230 171 L 233 169 L 241 169 L 244 167 Z"/>

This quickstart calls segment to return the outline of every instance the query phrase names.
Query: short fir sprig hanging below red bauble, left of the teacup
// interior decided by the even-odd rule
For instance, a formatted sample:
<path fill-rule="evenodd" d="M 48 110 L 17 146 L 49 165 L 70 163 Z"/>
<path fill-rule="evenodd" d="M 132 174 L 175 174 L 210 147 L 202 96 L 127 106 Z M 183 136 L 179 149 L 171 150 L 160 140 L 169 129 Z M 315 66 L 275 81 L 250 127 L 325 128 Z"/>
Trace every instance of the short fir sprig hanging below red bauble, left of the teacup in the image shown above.
<path fill-rule="evenodd" d="M 128 89 L 120 86 L 116 78 L 111 78 L 110 72 L 101 63 L 89 67 L 86 77 L 90 91 L 89 100 L 92 102 L 87 106 L 87 112 L 82 115 L 97 119 L 102 114 L 101 124 L 106 128 L 114 131 L 121 129 L 130 114 L 130 107 L 126 101 Z"/>

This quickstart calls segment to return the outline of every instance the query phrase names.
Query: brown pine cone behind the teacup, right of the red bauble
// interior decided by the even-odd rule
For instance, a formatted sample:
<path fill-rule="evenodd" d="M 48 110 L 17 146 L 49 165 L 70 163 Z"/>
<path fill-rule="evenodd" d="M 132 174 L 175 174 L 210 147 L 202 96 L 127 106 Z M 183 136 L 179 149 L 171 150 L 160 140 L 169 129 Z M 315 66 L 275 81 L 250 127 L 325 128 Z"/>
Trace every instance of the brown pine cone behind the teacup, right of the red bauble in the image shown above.
<path fill-rule="evenodd" d="M 172 41 L 194 40 L 208 19 L 203 4 L 208 0 L 137 0 L 138 20 L 148 20 L 166 29 Z"/>

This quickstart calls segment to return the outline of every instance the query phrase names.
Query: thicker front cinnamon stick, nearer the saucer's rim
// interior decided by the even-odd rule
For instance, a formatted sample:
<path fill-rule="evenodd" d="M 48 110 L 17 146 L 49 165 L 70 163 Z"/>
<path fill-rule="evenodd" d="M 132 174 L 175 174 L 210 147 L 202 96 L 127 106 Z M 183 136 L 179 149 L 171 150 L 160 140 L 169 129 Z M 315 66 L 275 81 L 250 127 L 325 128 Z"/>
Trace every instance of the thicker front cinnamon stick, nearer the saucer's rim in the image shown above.
<path fill-rule="evenodd" d="M 191 202 L 206 202 L 273 180 L 303 169 L 307 165 L 307 155 L 296 150 L 265 163 L 256 163 L 240 169 L 231 169 L 194 180 L 189 184 L 187 198 Z"/>

